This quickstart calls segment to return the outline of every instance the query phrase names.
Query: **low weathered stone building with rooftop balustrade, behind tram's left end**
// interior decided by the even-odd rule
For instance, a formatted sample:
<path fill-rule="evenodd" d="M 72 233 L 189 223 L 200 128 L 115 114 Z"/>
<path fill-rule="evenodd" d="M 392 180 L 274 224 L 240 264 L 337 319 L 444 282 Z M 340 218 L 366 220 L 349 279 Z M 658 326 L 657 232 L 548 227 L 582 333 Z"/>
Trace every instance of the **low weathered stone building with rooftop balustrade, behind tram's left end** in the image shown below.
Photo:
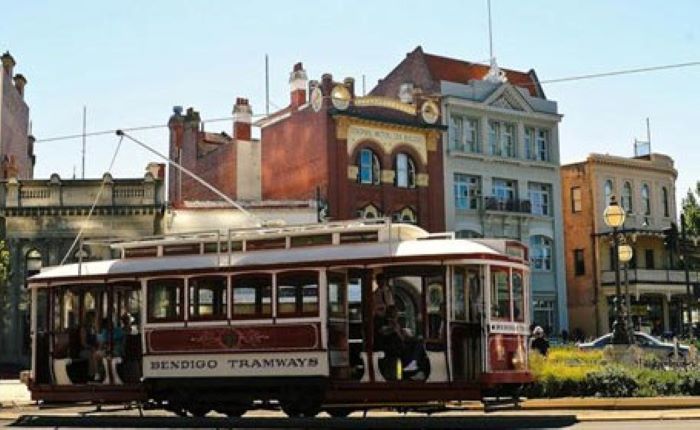
<path fill-rule="evenodd" d="M 102 179 L 63 180 L 54 174 L 48 180 L 0 182 L 2 235 L 10 251 L 9 281 L 0 289 L 1 366 L 24 366 L 29 360 L 28 276 L 64 259 L 72 263 L 114 257 L 108 247 L 81 242 L 71 250 L 81 229 L 85 242 L 161 233 L 164 166 L 151 167 L 141 179 L 105 174 Z M 104 189 L 88 220 L 103 181 Z"/>

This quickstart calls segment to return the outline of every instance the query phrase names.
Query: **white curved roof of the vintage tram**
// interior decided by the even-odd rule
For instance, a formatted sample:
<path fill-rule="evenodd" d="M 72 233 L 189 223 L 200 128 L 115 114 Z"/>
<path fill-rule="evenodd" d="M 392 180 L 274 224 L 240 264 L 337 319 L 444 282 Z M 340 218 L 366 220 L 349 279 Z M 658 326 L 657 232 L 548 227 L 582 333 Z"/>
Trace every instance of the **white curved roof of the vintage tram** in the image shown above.
<path fill-rule="evenodd" d="M 393 227 L 397 225 L 394 224 Z M 390 226 L 392 227 L 392 226 Z M 406 227 L 405 225 L 403 227 Z M 506 253 L 506 240 L 469 240 L 432 236 L 410 226 L 411 234 L 398 234 L 393 240 L 368 243 L 334 244 L 303 248 L 269 249 L 247 252 L 173 255 L 127 258 L 46 267 L 30 278 L 30 284 L 66 283 L 80 278 L 124 278 L 160 276 L 161 273 L 217 272 L 227 269 L 255 268 L 270 270 L 289 266 L 370 266 L 401 261 L 449 260 L 454 258 L 511 259 Z M 415 231 L 414 231 L 415 230 Z"/>

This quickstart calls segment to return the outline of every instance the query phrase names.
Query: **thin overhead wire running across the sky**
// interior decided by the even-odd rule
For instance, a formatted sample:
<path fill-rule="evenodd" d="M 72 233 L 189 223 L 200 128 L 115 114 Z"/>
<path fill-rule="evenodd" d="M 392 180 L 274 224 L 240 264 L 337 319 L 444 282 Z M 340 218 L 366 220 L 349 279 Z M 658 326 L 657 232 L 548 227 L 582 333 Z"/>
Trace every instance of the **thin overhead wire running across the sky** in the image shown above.
<path fill-rule="evenodd" d="M 678 69 L 678 68 L 696 67 L 696 66 L 700 66 L 700 61 L 664 64 L 664 65 L 660 65 L 660 66 L 640 67 L 640 68 L 634 68 L 634 69 L 623 69 L 623 70 L 614 70 L 614 71 L 609 71 L 609 72 L 591 73 L 591 74 L 586 74 L 586 75 L 568 76 L 568 77 L 563 77 L 563 78 L 545 79 L 545 80 L 540 80 L 538 82 L 532 82 L 532 83 L 519 83 L 518 86 L 528 86 L 528 85 L 534 86 L 534 85 L 538 85 L 538 84 L 539 85 L 557 84 L 557 83 L 561 83 L 561 82 L 574 82 L 574 81 L 582 81 L 582 80 L 587 80 L 587 79 L 598 79 L 598 78 L 605 78 L 605 77 L 610 77 L 610 76 L 631 75 L 631 74 L 637 74 L 637 73 L 647 73 L 647 72 L 655 72 L 655 71 L 659 71 L 659 70 Z M 271 104 L 273 104 L 273 103 L 271 103 Z M 266 116 L 268 116 L 268 115 L 266 115 L 266 114 L 252 115 L 253 118 L 261 118 L 261 117 L 266 117 Z M 224 121 L 232 121 L 232 120 L 233 120 L 233 116 L 227 116 L 227 117 L 204 120 L 201 123 L 207 124 L 207 123 L 216 123 L 216 122 L 224 122 Z M 85 133 L 85 134 L 79 133 L 79 134 L 69 134 L 69 135 L 64 135 L 64 136 L 47 137 L 47 138 L 43 138 L 43 139 L 36 139 L 35 142 L 41 142 L 41 143 L 43 143 L 43 142 L 56 142 L 56 141 L 60 141 L 60 140 L 80 139 L 83 136 L 91 137 L 91 136 L 108 135 L 108 134 L 116 133 L 117 130 L 121 130 L 124 132 L 132 132 L 132 131 L 154 130 L 154 129 L 166 128 L 166 127 L 168 127 L 167 124 L 152 124 L 152 125 L 143 125 L 143 126 L 135 126 L 135 127 L 113 128 L 113 129 L 108 129 L 108 130 L 93 131 L 93 132 L 89 132 L 89 133 Z"/>

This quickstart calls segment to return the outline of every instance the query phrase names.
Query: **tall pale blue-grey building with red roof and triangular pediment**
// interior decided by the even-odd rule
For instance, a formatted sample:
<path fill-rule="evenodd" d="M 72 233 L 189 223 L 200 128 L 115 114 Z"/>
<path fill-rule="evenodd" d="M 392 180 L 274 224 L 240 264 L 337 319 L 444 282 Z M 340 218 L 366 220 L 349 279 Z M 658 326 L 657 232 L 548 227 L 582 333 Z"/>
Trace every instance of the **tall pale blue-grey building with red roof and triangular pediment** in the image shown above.
<path fill-rule="evenodd" d="M 441 101 L 444 206 L 462 237 L 509 237 L 529 245 L 533 322 L 568 327 L 560 198 L 561 115 L 534 71 L 500 70 L 407 54 L 372 94 L 428 94 Z"/>

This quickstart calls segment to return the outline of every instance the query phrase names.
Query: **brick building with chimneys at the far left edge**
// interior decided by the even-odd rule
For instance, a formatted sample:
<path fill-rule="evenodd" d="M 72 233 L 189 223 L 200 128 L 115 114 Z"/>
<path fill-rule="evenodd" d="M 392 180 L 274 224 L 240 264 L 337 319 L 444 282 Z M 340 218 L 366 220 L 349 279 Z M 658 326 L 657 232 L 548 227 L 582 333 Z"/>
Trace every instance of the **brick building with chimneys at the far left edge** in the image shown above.
<path fill-rule="evenodd" d="M 34 175 L 34 137 L 28 134 L 29 106 L 24 101 L 27 79 L 14 74 L 15 59 L 2 57 L 0 71 L 0 179 L 31 179 Z"/>

